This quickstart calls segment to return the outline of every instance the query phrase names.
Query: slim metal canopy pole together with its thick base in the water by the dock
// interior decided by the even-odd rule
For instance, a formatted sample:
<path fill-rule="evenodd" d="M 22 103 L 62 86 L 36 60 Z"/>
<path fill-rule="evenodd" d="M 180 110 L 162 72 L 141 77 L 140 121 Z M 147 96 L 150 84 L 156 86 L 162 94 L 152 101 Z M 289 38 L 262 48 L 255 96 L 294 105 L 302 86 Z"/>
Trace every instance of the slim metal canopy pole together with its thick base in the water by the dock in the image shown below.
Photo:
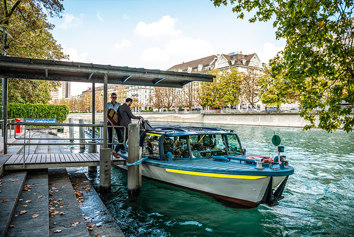
<path fill-rule="evenodd" d="M 103 77 L 103 148 L 99 149 L 99 186 L 110 188 L 110 149 L 107 148 L 107 74 Z"/>

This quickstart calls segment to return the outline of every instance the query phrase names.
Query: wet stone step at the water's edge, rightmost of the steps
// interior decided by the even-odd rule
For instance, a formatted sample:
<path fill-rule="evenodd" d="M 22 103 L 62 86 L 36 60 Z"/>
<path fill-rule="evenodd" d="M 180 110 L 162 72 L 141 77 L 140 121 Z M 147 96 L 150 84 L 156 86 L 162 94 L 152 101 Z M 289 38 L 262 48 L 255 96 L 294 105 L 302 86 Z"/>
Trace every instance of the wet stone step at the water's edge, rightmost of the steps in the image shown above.
<path fill-rule="evenodd" d="M 90 236 L 95 236 L 94 233 L 98 233 L 106 237 L 124 237 L 115 219 L 110 215 L 97 192 L 91 187 L 90 181 L 83 173 L 83 168 L 68 168 L 67 171 L 73 189 L 79 195 L 82 194 L 79 206 L 83 216 L 86 217 L 87 227 L 92 229 L 89 231 Z"/>

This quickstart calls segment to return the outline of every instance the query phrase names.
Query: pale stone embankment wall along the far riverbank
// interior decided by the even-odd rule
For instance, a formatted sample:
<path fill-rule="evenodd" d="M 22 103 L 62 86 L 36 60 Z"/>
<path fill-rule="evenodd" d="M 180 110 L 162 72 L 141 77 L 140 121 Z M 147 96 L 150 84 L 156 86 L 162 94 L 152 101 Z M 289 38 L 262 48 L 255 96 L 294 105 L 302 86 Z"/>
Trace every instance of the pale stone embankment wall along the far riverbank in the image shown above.
<path fill-rule="evenodd" d="M 137 115 L 137 114 L 135 114 Z M 172 123 L 209 123 L 230 125 L 256 125 L 256 126 L 280 126 L 303 127 L 308 124 L 299 113 L 220 113 L 220 114 L 141 114 L 144 119 L 151 122 Z M 74 120 L 91 120 L 91 113 L 72 113 L 69 118 Z M 103 113 L 96 113 L 96 122 L 103 121 Z"/>

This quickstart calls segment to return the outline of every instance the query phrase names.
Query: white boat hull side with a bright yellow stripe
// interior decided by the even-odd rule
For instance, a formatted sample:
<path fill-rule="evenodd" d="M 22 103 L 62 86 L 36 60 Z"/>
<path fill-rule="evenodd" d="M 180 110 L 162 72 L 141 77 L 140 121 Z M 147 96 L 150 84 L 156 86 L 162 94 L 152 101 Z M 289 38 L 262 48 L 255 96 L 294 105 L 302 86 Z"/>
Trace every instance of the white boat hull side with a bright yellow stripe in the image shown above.
<path fill-rule="evenodd" d="M 119 165 L 122 169 L 127 166 Z M 141 164 L 147 178 L 201 192 L 222 200 L 256 207 L 264 196 L 270 176 L 229 175 L 166 169 Z M 274 189 L 285 176 L 273 177 Z"/>

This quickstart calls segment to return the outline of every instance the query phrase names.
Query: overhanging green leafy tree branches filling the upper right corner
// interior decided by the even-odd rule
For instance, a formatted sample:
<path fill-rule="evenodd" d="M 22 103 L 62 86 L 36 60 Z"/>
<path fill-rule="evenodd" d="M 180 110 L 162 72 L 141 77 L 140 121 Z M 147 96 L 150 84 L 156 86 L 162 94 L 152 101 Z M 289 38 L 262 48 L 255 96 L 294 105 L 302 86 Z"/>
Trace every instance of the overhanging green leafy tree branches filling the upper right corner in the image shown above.
<path fill-rule="evenodd" d="M 354 34 L 352 0 L 258 1 L 213 0 L 215 6 L 233 4 L 232 11 L 243 19 L 244 12 L 254 13 L 249 22 L 274 20 L 276 38 L 286 41 L 285 49 L 270 62 L 271 77 L 284 84 L 276 93 L 293 91 L 303 110 L 300 115 L 327 132 L 343 127 L 352 131 L 354 103 Z M 284 93 L 286 94 L 286 93 Z M 328 108 L 328 109 L 326 109 Z"/>

